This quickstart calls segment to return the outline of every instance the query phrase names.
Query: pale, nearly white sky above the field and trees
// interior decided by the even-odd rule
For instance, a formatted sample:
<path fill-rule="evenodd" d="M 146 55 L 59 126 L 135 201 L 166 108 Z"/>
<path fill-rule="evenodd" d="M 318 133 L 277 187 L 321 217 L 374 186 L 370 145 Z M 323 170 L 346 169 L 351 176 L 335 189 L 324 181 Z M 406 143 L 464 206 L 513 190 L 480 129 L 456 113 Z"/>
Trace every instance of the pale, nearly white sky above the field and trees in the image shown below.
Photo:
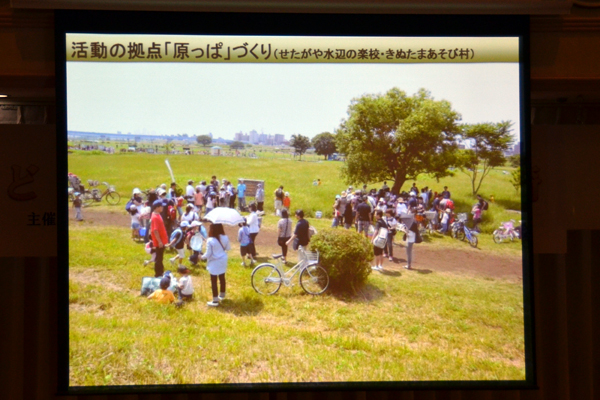
<path fill-rule="evenodd" d="M 519 66 L 481 64 L 67 63 L 68 129 L 202 135 L 333 132 L 350 100 L 398 87 L 445 99 L 465 123 L 515 123 Z"/>

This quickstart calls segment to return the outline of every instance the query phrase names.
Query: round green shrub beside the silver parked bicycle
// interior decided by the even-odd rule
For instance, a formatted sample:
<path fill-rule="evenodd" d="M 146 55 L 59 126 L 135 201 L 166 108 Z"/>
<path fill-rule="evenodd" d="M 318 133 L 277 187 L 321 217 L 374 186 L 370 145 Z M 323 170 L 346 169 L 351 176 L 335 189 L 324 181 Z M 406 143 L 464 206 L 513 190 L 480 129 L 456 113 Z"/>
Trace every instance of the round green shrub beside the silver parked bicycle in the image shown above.
<path fill-rule="evenodd" d="M 371 273 L 373 245 L 354 230 L 323 229 L 311 238 L 311 249 L 319 252 L 319 264 L 329 274 L 329 290 L 356 294 Z"/>

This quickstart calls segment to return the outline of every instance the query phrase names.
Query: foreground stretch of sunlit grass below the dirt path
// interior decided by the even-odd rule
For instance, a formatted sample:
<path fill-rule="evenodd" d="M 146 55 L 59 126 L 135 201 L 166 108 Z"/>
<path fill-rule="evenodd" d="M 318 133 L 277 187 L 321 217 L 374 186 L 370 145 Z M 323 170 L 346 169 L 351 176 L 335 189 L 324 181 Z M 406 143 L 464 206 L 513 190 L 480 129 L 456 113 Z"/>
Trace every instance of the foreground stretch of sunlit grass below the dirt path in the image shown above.
<path fill-rule="evenodd" d="M 128 230 L 73 225 L 72 385 L 524 379 L 520 282 L 391 271 L 350 300 L 265 297 L 232 251 L 222 306 L 198 268 L 177 309 L 139 297 L 152 269 Z"/>

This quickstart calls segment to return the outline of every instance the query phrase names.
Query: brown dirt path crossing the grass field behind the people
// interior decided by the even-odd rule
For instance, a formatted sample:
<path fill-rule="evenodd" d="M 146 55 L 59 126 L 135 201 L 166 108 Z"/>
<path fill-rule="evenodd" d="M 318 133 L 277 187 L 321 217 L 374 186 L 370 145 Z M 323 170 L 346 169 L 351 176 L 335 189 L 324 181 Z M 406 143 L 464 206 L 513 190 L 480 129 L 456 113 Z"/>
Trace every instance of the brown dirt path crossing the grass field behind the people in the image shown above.
<path fill-rule="evenodd" d="M 129 227 L 130 218 L 121 211 L 106 212 L 85 208 L 83 210 L 85 225 L 97 226 L 122 226 Z M 71 220 L 75 218 L 73 209 L 69 210 Z M 237 250 L 235 238 L 237 227 L 225 227 L 225 233 L 232 239 L 233 251 Z M 277 245 L 277 232 L 275 228 L 261 230 L 256 238 L 256 249 L 259 259 L 271 254 L 281 253 Z M 236 252 L 237 253 L 237 252 Z M 485 276 L 521 281 L 523 277 L 522 261 L 519 257 L 498 256 L 488 254 L 484 250 L 465 251 L 454 248 L 431 248 L 426 243 L 416 245 L 413 250 L 413 268 L 417 273 L 449 272 L 471 276 Z M 394 245 L 394 261 L 385 260 L 384 269 L 388 271 L 403 270 L 406 263 L 406 251 L 402 244 Z"/>

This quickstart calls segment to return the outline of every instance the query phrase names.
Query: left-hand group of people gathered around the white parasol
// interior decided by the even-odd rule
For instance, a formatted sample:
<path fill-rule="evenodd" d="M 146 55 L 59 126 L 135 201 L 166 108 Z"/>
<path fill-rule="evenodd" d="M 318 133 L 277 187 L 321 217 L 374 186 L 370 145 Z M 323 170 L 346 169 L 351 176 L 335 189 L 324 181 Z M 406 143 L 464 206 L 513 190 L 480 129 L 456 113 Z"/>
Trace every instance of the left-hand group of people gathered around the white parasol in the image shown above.
<path fill-rule="evenodd" d="M 179 192 L 179 193 L 178 193 Z M 146 242 L 146 252 L 151 258 L 144 265 L 154 264 L 155 278 L 161 278 L 160 289 L 149 296 L 160 303 L 184 301 L 193 297 L 193 284 L 189 269 L 183 262 L 189 260 L 190 265 L 196 266 L 201 260 L 206 261 L 206 268 L 210 274 L 212 300 L 208 306 L 218 306 L 226 296 L 225 272 L 228 263 L 228 251 L 231 250 L 230 240 L 225 234 L 223 225 L 210 224 L 205 228 L 208 220 L 206 215 L 216 207 L 237 208 L 247 212 L 244 222 L 239 224 L 237 240 L 240 245 L 242 265 L 250 266 L 255 263 L 257 256 L 256 237 L 260 232 L 261 215 L 264 214 L 265 192 L 261 184 L 257 184 L 252 202 L 247 202 L 247 188 L 243 179 L 238 180 L 234 186 L 231 181 L 216 176 L 211 180 L 201 181 L 194 186 L 194 181 L 189 180 L 185 190 L 178 191 L 177 185 L 172 183 L 167 188 L 166 184 L 150 189 L 146 193 L 139 188 L 132 192 L 131 199 L 127 202 L 126 210 L 131 217 L 132 238 Z M 287 256 L 288 246 L 294 249 L 308 244 L 308 222 L 304 219 L 302 210 L 296 211 L 297 222 L 295 229 L 289 218 L 291 198 L 289 192 L 283 191 L 280 186 L 274 191 L 275 213 L 281 216 L 278 244 L 282 248 L 284 257 Z M 286 221 L 285 226 L 282 221 Z M 196 241 L 196 245 L 194 245 Z M 198 243 L 200 243 L 198 245 Z M 175 255 L 169 259 L 173 267 L 182 275 L 177 281 L 177 299 L 175 295 L 168 295 L 171 285 L 172 273 L 165 272 L 165 250 L 171 248 Z M 189 251 L 189 256 L 186 255 Z"/>

